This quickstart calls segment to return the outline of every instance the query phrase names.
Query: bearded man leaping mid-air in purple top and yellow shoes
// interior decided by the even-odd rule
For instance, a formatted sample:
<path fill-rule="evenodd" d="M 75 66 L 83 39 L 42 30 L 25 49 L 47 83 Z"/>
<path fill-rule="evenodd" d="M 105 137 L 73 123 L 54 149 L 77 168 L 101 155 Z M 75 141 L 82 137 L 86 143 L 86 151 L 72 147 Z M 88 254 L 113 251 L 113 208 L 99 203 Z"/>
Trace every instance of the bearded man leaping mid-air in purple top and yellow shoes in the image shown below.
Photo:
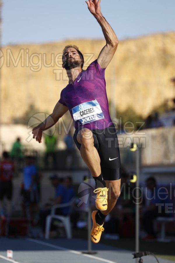
<path fill-rule="evenodd" d="M 53 113 L 32 131 L 41 143 L 42 131 L 52 127 L 69 110 L 74 121 L 74 141 L 95 179 L 97 193 L 92 212 L 91 240 L 98 243 L 106 215 L 120 195 L 120 153 L 115 127 L 111 121 L 104 72 L 118 46 L 118 39 L 100 11 L 101 0 L 86 1 L 88 9 L 103 31 L 106 45 L 98 58 L 83 70 L 83 54 L 77 46 L 63 50 L 62 67 L 69 84 L 62 90 Z M 46 127 L 47 124 L 47 127 Z M 108 193 L 109 190 L 109 193 Z M 107 194 L 108 193 L 108 194 Z"/>

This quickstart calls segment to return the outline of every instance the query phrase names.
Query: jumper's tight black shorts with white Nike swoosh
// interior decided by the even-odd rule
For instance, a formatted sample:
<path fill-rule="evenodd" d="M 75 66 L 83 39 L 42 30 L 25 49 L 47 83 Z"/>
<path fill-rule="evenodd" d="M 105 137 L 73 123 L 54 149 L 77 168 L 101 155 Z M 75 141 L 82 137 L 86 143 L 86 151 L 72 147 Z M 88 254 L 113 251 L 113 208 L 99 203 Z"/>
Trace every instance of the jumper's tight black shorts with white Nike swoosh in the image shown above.
<path fill-rule="evenodd" d="M 77 141 L 77 134 L 83 129 L 78 127 L 74 132 L 74 142 L 80 150 L 81 143 Z M 106 129 L 91 130 L 94 138 L 94 146 L 100 157 L 101 173 L 104 180 L 118 180 L 121 178 L 120 152 L 116 129 L 112 124 Z"/>

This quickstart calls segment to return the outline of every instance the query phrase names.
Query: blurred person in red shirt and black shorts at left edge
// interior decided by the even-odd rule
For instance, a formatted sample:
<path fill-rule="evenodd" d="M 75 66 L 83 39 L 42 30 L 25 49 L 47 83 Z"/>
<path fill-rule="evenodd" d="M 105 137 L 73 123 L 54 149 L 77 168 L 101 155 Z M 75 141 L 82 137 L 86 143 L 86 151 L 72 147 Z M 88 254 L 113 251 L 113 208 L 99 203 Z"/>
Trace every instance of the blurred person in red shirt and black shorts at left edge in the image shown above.
<path fill-rule="evenodd" d="M 11 216 L 11 200 L 13 196 L 12 178 L 15 176 L 15 165 L 9 158 L 8 152 L 3 152 L 3 161 L 0 163 L 0 218 L 6 219 L 6 235 Z M 3 199 L 6 200 L 6 211 L 3 210 Z"/>

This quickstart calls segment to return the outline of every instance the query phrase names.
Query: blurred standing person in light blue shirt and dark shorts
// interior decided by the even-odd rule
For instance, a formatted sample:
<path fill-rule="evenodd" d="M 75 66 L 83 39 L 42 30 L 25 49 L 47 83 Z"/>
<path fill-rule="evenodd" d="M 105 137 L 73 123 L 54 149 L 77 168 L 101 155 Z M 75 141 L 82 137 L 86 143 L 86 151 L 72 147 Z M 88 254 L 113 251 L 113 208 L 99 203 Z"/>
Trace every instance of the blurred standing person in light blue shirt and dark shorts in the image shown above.
<path fill-rule="evenodd" d="M 25 157 L 25 166 L 23 169 L 23 188 L 21 191 L 23 200 L 24 214 L 27 216 L 29 224 L 32 220 L 38 219 L 38 203 L 39 203 L 39 193 L 37 188 L 37 169 L 34 164 L 34 156 Z M 29 225 L 29 233 L 31 233 L 31 225 Z"/>

